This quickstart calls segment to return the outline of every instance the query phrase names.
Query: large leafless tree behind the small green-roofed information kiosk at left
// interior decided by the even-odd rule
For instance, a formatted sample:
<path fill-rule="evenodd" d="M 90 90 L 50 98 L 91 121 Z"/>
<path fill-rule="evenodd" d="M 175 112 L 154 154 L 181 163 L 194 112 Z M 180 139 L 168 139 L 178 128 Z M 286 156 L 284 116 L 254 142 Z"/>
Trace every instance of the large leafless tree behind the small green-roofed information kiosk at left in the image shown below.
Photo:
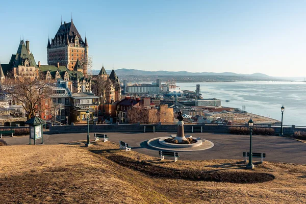
<path fill-rule="evenodd" d="M 27 118 L 35 116 L 36 112 L 44 110 L 44 103 L 52 94 L 49 84 L 44 80 L 44 75 L 38 77 L 28 77 L 20 75 L 14 77 L 13 73 L 8 74 L 5 84 L 2 86 L 3 94 L 9 94 L 18 101 L 27 112 Z"/>

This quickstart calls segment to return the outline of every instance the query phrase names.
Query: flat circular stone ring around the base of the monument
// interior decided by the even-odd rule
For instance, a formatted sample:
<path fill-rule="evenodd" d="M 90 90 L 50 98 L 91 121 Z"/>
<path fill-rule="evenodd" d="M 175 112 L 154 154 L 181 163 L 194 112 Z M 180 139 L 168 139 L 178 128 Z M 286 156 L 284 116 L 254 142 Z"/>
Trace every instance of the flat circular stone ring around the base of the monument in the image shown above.
<path fill-rule="evenodd" d="M 199 146 L 191 146 L 191 147 L 177 147 L 179 145 L 175 145 L 175 144 L 171 144 L 171 143 L 167 143 L 167 144 L 171 144 L 171 147 L 169 146 L 165 146 L 160 144 L 160 140 L 166 139 L 169 137 L 157 137 L 157 138 L 153 138 L 147 141 L 147 144 L 150 147 L 153 148 L 157 148 L 157 149 L 161 149 L 161 150 L 168 150 L 168 151 L 200 151 L 200 150 L 205 150 L 205 149 L 209 149 L 212 148 L 214 146 L 214 143 L 209 141 L 209 140 L 204 140 L 201 139 L 202 144 Z M 196 142 L 197 143 L 197 142 Z M 194 143 L 194 144 L 196 144 Z"/>

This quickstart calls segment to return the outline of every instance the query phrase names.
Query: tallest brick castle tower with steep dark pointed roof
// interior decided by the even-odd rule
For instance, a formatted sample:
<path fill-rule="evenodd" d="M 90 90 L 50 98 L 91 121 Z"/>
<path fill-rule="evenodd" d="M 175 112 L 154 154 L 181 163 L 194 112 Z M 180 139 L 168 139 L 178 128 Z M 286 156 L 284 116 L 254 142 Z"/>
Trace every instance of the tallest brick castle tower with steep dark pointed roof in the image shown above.
<path fill-rule="evenodd" d="M 53 39 L 48 39 L 48 65 L 66 66 L 73 70 L 77 61 L 82 65 L 82 72 L 87 75 L 88 43 L 85 36 L 83 41 L 73 21 L 61 22 L 60 28 Z"/>

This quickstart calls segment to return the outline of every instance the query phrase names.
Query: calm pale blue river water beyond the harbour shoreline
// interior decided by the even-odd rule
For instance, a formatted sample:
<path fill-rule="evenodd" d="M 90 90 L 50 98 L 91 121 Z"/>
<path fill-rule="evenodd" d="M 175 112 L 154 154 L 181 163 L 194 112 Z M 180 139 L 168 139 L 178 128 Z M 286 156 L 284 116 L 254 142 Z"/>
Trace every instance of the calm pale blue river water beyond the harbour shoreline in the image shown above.
<path fill-rule="evenodd" d="M 242 108 L 249 113 L 282 119 L 284 124 L 306 126 L 305 82 L 220 82 L 220 83 L 176 83 L 181 90 L 195 91 L 200 84 L 203 98 L 221 99 L 225 107 Z M 230 100 L 230 102 L 225 102 Z"/>

